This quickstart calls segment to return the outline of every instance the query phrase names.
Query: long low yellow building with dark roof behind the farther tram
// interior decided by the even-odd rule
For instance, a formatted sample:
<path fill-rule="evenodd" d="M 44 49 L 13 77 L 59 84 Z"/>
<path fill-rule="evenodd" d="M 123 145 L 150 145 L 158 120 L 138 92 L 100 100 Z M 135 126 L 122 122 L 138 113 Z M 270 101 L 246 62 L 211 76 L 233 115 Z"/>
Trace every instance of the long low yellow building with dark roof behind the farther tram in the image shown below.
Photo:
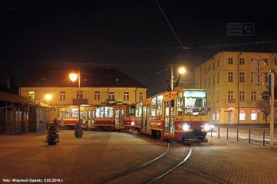
<path fill-rule="evenodd" d="M 81 68 L 80 96 L 78 78 L 72 82 L 69 73 L 70 68 L 29 71 L 19 95 L 51 105 L 50 117 L 57 117 L 61 107 L 77 106 L 79 98 L 81 106 L 102 104 L 107 99 L 136 104 L 146 98 L 146 87 L 116 68 Z"/>

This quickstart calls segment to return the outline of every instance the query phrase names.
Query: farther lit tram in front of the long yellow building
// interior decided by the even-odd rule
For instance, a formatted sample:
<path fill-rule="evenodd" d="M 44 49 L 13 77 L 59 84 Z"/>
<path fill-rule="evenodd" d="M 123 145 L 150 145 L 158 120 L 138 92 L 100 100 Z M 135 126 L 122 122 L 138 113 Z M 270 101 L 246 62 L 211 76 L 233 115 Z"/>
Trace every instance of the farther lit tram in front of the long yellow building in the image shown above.
<path fill-rule="evenodd" d="M 135 106 L 127 104 L 80 107 L 82 128 L 110 131 L 132 130 L 134 111 Z M 78 107 L 60 108 L 57 123 L 65 129 L 75 129 L 78 115 Z"/>

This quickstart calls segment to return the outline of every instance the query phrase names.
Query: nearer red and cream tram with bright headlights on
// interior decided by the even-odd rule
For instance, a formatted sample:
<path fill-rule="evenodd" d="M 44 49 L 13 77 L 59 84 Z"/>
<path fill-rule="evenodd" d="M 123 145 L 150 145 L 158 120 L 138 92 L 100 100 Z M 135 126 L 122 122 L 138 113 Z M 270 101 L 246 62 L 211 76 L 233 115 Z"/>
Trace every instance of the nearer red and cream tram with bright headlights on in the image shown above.
<path fill-rule="evenodd" d="M 136 104 L 136 131 L 181 142 L 208 142 L 205 89 L 166 91 Z"/>

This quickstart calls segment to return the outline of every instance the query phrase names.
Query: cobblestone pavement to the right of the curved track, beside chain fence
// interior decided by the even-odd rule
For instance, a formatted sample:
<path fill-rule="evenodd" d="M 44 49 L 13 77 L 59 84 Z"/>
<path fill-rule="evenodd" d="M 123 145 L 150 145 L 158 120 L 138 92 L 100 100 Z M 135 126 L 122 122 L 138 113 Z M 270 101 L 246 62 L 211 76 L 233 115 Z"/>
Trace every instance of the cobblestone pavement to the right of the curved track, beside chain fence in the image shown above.
<path fill-rule="evenodd" d="M 208 137 L 190 158 L 154 183 L 277 183 L 277 150 Z"/>

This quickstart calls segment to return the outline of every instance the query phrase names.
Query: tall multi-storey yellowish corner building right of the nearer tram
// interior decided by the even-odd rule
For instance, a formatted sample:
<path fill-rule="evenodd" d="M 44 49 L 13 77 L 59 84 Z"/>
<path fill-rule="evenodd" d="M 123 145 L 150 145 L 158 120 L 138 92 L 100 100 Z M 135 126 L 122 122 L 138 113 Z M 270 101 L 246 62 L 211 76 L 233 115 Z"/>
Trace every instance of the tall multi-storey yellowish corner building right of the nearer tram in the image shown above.
<path fill-rule="evenodd" d="M 260 86 L 255 84 L 260 61 Z M 263 62 L 262 62 L 263 61 Z M 265 123 L 257 102 L 268 91 L 267 77 L 277 69 L 277 53 L 221 52 L 195 68 L 195 85 L 207 90 L 209 122 L 215 124 Z M 267 118 L 267 122 L 269 122 Z"/>

